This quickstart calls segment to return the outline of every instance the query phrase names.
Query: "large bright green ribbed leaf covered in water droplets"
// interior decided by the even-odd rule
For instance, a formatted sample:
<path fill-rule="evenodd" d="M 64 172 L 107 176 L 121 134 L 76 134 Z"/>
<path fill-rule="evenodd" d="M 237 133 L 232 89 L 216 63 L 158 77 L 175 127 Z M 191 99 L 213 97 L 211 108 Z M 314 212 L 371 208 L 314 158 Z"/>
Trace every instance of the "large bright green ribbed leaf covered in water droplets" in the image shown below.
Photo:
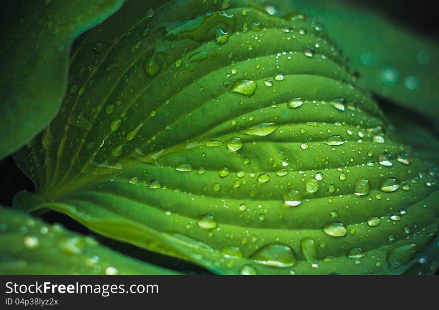
<path fill-rule="evenodd" d="M 15 207 L 219 274 L 436 268 L 438 171 L 312 19 L 142 3 L 81 41 L 82 91 L 15 155 L 36 185 Z"/>

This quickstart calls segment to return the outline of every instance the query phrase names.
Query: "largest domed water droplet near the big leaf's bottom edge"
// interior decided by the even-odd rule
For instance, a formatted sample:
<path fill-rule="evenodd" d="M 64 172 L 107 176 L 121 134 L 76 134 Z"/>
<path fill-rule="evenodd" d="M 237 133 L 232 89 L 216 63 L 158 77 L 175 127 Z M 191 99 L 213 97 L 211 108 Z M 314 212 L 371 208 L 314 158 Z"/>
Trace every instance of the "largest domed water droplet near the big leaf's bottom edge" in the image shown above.
<path fill-rule="evenodd" d="M 284 244 L 273 243 L 256 250 L 250 257 L 258 264 L 272 267 L 291 267 L 297 259 L 293 250 Z"/>

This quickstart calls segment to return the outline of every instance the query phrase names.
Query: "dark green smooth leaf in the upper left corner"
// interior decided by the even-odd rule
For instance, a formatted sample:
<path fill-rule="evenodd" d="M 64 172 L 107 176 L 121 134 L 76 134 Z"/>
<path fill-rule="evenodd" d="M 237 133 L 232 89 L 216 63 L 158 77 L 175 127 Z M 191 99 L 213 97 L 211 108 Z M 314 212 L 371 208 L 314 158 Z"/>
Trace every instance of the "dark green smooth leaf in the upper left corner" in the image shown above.
<path fill-rule="evenodd" d="M 73 40 L 123 0 L 8 2 L 1 8 L 0 159 L 49 124 L 67 88 Z"/>

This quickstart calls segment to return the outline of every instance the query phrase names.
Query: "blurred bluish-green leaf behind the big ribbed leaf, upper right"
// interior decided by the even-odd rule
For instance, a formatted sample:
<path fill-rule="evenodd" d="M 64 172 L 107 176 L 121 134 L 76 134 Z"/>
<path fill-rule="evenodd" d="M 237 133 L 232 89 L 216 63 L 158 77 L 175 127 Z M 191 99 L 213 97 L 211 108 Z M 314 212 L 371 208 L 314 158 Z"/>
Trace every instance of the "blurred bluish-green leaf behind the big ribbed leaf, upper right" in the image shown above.
<path fill-rule="evenodd" d="M 439 43 L 392 16 L 343 0 L 265 1 L 283 16 L 291 11 L 318 19 L 360 73 L 360 84 L 429 117 L 439 117 Z M 435 128 L 438 133 L 438 128 Z"/>

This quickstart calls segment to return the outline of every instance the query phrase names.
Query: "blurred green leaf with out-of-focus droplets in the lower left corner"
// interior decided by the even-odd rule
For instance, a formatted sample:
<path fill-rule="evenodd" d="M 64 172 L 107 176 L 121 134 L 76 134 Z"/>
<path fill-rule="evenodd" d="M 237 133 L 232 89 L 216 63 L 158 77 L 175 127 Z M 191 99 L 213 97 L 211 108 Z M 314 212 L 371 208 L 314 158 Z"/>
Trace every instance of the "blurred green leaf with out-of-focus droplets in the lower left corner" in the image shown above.
<path fill-rule="evenodd" d="M 175 275 L 91 237 L 0 207 L 1 275 Z"/>

